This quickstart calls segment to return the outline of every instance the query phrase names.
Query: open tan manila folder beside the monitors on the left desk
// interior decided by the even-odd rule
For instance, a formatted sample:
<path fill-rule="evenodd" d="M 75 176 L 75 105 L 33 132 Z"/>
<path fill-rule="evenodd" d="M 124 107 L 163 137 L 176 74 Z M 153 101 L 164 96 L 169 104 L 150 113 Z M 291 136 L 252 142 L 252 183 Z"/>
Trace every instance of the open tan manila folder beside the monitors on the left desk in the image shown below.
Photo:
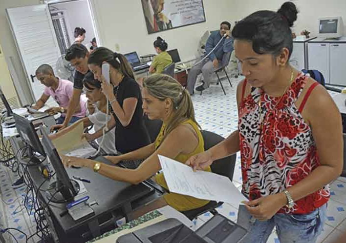
<path fill-rule="evenodd" d="M 71 154 L 71 152 L 81 148 L 83 148 L 85 152 L 87 150 L 89 153 L 95 153 L 96 149 L 90 146 L 85 138 L 82 140 L 83 128 L 83 122 L 80 122 L 70 131 L 52 140 L 59 154 L 83 157 L 81 151 L 77 152 L 77 154 Z"/>

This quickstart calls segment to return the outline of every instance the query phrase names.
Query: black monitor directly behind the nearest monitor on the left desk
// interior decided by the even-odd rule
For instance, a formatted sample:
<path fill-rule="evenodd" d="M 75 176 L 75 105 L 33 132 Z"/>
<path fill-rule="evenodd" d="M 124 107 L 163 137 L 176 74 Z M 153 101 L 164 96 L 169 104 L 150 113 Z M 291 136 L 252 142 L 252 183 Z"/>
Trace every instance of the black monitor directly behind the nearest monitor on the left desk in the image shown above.
<path fill-rule="evenodd" d="M 31 161 L 40 162 L 36 157 L 33 156 L 33 152 L 37 152 L 43 157 L 45 157 L 45 152 L 43 150 L 43 146 L 40 142 L 39 136 L 37 136 L 34 125 L 31 121 L 28 121 L 25 117 L 17 115 L 16 113 L 13 113 L 12 116 L 16 122 L 16 128 L 22 138 L 22 141 L 29 145 L 30 149 L 28 156 L 31 158 Z"/>

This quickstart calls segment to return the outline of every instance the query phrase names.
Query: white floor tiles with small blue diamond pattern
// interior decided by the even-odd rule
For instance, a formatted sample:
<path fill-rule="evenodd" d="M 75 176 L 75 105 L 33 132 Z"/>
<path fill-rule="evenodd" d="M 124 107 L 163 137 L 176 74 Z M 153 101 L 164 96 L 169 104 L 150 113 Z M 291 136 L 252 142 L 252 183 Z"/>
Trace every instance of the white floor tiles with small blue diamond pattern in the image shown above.
<path fill-rule="evenodd" d="M 225 96 L 219 85 L 212 85 L 208 90 L 204 91 L 200 96 L 195 93 L 193 96 L 196 119 L 201 125 L 202 129 L 216 132 L 217 134 L 226 137 L 231 132 L 237 129 L 237 104 L 236 104 L 236 87 L 238 80 L 232 80 L 233 87 L 231 88 L 227 81 L 223 81 L 227 95 Z M 237 166 L 235 168 L 234 183 L 238 188 L 241 186 L 241 173 L 240 173 L 240 157 L 237 158 Z M 22 202 L 23 189 L 19 188 L 13 190 L 11 183 L 15 181 L 16 176 L 8 172 L 7 169 L 0 167 L 0 189 L 2 200 L 7 203 L 2 203 L 5 212 L 1 212 L 0 222 L 3 222 L 2 217 L 8 219 L 8 227 L 15 227 L 21 229 L 26 234 L 31 235 L 34 233 L 35 224 L 33 223 L 33 216 L 28 216 L 26 210 L 21 211 L 17 208 L 19 203 Z M 324 231 L 318 239 L 318 243 L 331 243 L 337 239 L 343 232 L 346 232 L 346 178 L 339 178 L 331 184 L 331 200 L 328 203 L 328 220 L 324 226 Z M 19 200 L 16 200 L 19 198 Z M 15 213 L 15 209 L 20 211 Z M 218 212 L 229 219 L 236 221 L 238 209 L 236 205 L 224 203 L 219 207 Z M 203 223 L 208 221 L 212 215 L 206 213 L 200 216 L 193 222 L 194 229 L 197 229 Z M 2 226 L 0 226 L 2 227 Z M 25 237 L 21 233 L 11 231 L 17 238 L 18 242 L 25 242 Z M 6 242 L 11 242 L 8 233 L 4 234 L 7 237 Z M 38 238 L 35 238 L 36 241 Z M 35 242 L 36 242 L 35 241 Z M 15 242 L 15 241 L 13 241 Z M 31 243 L 31 241 L 29 241 Z M 270 236 L 268 243 L 280 243 L 275 230 Z"/>

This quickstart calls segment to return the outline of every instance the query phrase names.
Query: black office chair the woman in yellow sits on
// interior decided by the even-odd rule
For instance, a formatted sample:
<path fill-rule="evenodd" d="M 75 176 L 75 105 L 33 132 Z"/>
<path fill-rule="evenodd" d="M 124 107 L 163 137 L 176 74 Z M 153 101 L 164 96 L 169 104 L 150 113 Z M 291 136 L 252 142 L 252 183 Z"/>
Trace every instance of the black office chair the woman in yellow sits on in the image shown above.
<path fill-rule="evenodd" d="M 214 145 L 216 145 L 217 143 L 222 142 L 224 140 L 223 137 L 221 137 L 220 135 L 217 135 L 216 133 L 205 131 L 205 130 L 202 130 L 201 132 L 202 132 L 202 136 L 204 140 L 204 150 L 207 150 L 213 147 Z M 234 154 L 226 158 L 215 161 L 211 165 L 212 172 L 218 175 L 226 176 L 232 181 L 234 168 L 236 166 L 236 159 L 237 159 L 237 155 Z M 181 211 L 181 213 L 184 214 L 190 220 L 193 220 L 197 218 L 199 215 L 202 215 L 206 212 L 211 212 L 212 214 L 216 215 L 217 214 L 216 208 L 222 204 L 223 202 L 210 201 L 210 203 L 208 203 L 207 205 L 203 207 L 199 207 L 199 208 L 188 210 L 188 211 Z"/>

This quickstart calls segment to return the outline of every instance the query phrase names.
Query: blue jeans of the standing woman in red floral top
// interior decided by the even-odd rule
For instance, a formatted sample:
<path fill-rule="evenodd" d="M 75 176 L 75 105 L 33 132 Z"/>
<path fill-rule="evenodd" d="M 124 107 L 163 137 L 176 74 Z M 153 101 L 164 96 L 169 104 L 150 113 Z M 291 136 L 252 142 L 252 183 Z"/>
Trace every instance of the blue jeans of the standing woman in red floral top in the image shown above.
<path fill-rule="evenodd" d="M 252 218 L 244 205 L 239 205 L 237 223 L 249 233 L 242 243 L 267 242 L 274 226 L 280 243 L 315 243 L 323 230 L 327 205 L 308 214 L 275 214 L 267 221 Z"/>

